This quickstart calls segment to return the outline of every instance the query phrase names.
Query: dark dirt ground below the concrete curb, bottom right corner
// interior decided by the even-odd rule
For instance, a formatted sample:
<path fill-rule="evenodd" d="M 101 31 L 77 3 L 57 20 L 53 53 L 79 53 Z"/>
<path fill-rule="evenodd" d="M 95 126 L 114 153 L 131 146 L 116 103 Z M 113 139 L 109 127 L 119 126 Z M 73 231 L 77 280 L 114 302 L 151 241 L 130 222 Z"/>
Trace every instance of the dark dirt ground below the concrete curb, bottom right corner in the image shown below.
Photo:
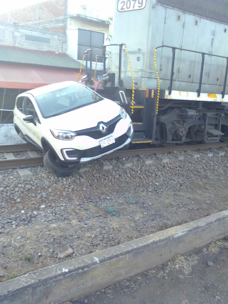
<path fill-rule="evenodd" d="M 228 247 L 227 241 L 226 244 Z M 162 266 L 67 303 L 227 304 L 228 248 L 219 253 L 211 253 L 212 249 L 204 247 L 189 256 L 178 256 Z"/>

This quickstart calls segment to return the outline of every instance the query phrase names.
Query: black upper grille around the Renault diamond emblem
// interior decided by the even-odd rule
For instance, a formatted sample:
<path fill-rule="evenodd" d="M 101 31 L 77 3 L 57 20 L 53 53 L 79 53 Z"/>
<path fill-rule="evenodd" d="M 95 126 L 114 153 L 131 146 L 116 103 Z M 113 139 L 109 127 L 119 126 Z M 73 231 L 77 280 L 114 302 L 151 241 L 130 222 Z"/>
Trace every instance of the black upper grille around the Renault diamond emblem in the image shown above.
<path fill-rule="evenodd" d="M 107 123 L 103 123 L 105 126 L 107 126 L 106 132 L 102 133 L 99 130 L 99 124 L 96 127 L 81 130 L 81 131 L 75 131 L 77 133 L 77 136 L 86 135 L 89 137 L 92 137 L 94 139 L 99 139 L 104 136 L 110 135 L 115 130 L 116 124 L 120 121 L 121 117 L 118 115 L 117 117 L 113 118 L 112 120 L 108 121 Z"/>

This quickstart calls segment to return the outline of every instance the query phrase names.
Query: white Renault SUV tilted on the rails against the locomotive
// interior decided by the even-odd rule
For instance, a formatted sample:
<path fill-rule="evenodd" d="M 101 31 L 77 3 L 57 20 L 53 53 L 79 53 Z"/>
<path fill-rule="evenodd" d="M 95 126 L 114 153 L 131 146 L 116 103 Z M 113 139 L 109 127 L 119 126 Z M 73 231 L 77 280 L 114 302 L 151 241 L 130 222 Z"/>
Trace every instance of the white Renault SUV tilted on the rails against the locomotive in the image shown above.
<path fill-rule="evenodd" d="M 46 152 L 44 164 L 60 177 L 127 146 L 133 136 L 122 107 L 74 81 L 18 95 L 13 116 L 17 133 Z"/>

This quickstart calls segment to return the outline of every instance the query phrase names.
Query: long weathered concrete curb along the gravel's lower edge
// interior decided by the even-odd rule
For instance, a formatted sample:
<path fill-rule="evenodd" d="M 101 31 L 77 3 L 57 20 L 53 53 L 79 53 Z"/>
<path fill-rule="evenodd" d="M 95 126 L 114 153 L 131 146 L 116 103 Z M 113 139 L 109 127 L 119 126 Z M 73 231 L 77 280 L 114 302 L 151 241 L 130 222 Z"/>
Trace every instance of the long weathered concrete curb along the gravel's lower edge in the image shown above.
<path fill-rule="evenodd" d="M 0 283 L 0 303 L 74 299 L 226 235 L 228 210 Z"/>

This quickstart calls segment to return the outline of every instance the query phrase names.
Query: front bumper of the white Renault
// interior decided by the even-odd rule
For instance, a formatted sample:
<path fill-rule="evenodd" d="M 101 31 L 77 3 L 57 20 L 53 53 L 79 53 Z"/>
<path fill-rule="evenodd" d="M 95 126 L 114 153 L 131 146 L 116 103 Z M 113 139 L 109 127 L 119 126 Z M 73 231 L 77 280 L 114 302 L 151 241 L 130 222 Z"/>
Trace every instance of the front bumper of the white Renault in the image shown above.
<path fill-rule="evenodd" d="M 102 148 L 99 140 L 110 135 L 115 138 L 115 143 Z M 68 164 L 79 164 L 91 161 L 112 153 L 115 150 L 119 150 L 128 145 L 133 137 L 133 127 L 130 117 L 128 116 L 126 119 L 121 119 L 116 124 L 113 133 L 110 135 L 104 136 L 98 140 L 89 136 L 76 136 L 74 140 L 64 142 L 64 148 L 61 147 L 60 150 L 55 150 L 60 160 Z"/>

